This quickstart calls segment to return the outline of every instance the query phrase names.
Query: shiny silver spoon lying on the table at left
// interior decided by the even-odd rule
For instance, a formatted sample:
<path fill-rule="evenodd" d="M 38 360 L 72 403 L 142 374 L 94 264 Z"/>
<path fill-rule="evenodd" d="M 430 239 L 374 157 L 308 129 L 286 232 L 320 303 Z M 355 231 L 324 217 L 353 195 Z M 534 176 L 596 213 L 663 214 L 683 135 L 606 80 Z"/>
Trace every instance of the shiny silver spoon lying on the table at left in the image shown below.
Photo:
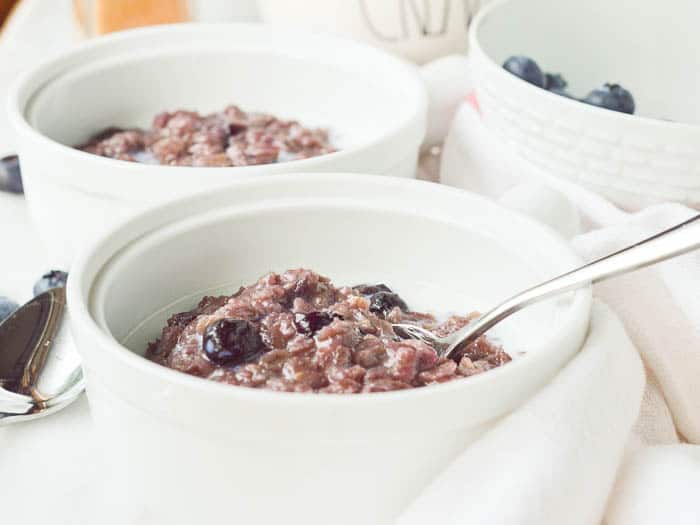
<path fill-rule="evenodd" d="M 55 288 L 0 323 L 0 426 L 57 412 L 85 389 L 65 305 Z"/>

